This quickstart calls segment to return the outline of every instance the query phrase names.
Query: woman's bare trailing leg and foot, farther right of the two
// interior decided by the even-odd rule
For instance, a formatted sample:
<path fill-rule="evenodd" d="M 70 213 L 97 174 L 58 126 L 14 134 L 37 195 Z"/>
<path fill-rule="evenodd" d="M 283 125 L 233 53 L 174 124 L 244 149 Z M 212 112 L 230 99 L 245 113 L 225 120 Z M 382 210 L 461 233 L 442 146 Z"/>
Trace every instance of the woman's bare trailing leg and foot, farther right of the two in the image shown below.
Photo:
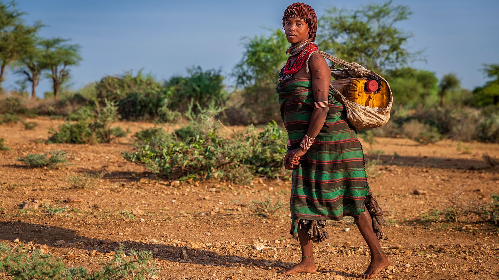
<path fill-rule="evenodd" d="M 390 265 L 390 260 L 384 252 L 381 252 L 381 245 L 373 231 L 371 215 L 366 210 L 360 213 L 359 218 L 355 219 L 355 224 L 359 228 L 362 237 L 371 251 L 371 263 L 367 267 L 366 272 L 360 276 L 363 279 L 371 279 Z"/>

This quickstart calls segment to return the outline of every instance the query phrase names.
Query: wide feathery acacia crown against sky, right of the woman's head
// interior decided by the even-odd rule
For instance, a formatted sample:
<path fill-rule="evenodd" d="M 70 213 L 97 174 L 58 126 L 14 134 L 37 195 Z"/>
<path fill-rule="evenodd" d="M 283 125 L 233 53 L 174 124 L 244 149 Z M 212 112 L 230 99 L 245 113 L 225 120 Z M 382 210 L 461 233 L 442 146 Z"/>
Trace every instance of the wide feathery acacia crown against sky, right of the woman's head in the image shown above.
<path fill-rule="evenodd" d="M 368 69 L 399 68 L 420 54 L 405 47 L 412 34 L 396 27 L 411 14 L 408 6 L 392 5 L 391 0 L 357 10 L 333 7 L 319 18 L 316 41 L 325 52 Z"/>

